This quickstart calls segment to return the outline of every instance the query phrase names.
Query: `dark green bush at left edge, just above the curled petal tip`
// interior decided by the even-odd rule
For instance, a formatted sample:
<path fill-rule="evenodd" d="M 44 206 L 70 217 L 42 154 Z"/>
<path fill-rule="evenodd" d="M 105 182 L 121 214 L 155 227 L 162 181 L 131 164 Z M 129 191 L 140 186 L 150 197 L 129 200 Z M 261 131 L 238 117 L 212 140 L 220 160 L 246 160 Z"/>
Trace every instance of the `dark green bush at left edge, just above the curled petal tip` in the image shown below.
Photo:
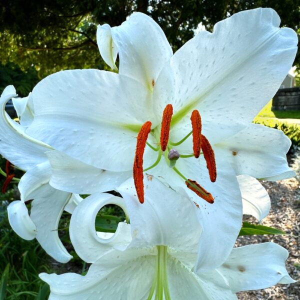
<path fill-rule="evenodd" d="M 7 85 L 13 84 L 20 97 L 27 96 L 38 80 L 37 71 L 33 67 L 23 71 L 15 63 L 0 63 L 0 93 Z"/>

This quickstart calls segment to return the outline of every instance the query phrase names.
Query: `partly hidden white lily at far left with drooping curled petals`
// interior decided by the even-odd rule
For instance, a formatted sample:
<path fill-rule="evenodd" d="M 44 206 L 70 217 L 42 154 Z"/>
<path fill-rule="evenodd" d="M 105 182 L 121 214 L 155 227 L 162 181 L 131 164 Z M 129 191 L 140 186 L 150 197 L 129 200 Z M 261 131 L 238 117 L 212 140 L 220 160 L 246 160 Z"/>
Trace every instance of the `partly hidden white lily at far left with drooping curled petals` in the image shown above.
<path fill-rule="evenodd" d="M 5 103 L 16 96 L 14 87 L 9 85 L 0 97 L 0 153 L 26 171 L 18 184 L 21 200 L 13 201 L 7 207 L 9 223 L 20 237 L 28 240 L 36 238 L 49 255 L 60 262 L 67 262 L 72 256 L 60 241 L 57 226 L 71 194 L 49 185 L 51 168 L 46 152 L 52 148 L 25 134 L 24 127 L 5 112 Z M 24 102 L 23 99 L 13 100 L 18 115 L 22 116 L 28 97 Z M 25 120 L 26 117 L 23 118 Z M 30 199 L 33 201 L 29 216 L 25 201 Z"/>

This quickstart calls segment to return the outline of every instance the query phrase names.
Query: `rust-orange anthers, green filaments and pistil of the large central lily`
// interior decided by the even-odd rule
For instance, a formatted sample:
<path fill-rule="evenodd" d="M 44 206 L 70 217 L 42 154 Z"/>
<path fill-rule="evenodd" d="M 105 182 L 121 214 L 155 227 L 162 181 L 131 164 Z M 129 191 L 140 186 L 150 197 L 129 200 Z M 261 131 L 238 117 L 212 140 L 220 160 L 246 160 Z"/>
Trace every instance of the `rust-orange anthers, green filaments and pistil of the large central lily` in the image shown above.
<path fill-rule="evenodd" d="M 200 113 L 196 109 L 192 111 L 190 117 L 192 130 L 178 142 L 169 141 L 169 132 L 170 132 L 172 114 L 173 114 L 173 107 L 171 104 L 167 104 L 162 113 L 159 143 L 157 147 L 154 147 L 149 142 L 147 142 L 147 138 L 150 132 L 152 132 L 154 136 L 157 135 L 157 128 L 151 129 L 152 123 L 150 121 L 146 121 L 141 126 L 137 134 L 135 157 L 133 163 L 133 178 L 134 178 L 134 185 L 135 185 L 138 200 L 140 203 L 144 202 L 143 172 L 156 166 L 159 163 L 161 155 L 163 153 L 166 161 L 168 161 L 168 165 L 181 178 L 184 179 L 186 186 L 190 190 L 195 192 L 198 196 L 206 200 L 207 202 L 213 203 L 213 197 L 208 191 L 206 191 L 195 180 L 187 179 L 175 167 L 175 163 L 176 160 L 178 159 L 178 155 L 181 158 L 188 158 L 191 156 L 198 158 L 200 154 L 203 154 L 204 159 L 206 160 L 206 167 L 208 169 L 210 181 L 214 182 L 216 179 L 216 166 L 215 166 L 214 152 L 208 139 L 201 133 L 202 123 L 201 123 Z M 182 142 L 184 142 L 190 134 L 192 134 L 193 154 L 181 155 L 178 153 L 176 149 L 173 148 L 173 146 L 179 145 Z M 158 155 L 156 161 L 152 165 L 143 169 L 143 154 L 146 145 L 148 145 L 152 150 L 157 151 Z"/>

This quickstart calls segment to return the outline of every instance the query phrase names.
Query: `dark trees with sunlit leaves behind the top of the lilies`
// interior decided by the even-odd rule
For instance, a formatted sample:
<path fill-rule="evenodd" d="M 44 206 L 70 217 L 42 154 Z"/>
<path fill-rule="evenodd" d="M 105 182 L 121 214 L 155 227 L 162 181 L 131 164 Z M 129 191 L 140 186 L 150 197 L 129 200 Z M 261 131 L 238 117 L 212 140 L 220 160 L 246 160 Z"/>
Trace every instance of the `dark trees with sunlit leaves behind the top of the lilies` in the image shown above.
<path fill-rule="evenodd" d="M 134 11 L 150 15 L 173 50 L 243 9 L 272 7 L 281 25 L 299 29 L 298 0 L 0 0 L 0 61 L 22 69 L 32 65 L 39 77 L 66 68 L 103 68 L 95 40 L 97 24 L 119 25 Z M 300 66 L 299 55 L 296 63 Z"/>

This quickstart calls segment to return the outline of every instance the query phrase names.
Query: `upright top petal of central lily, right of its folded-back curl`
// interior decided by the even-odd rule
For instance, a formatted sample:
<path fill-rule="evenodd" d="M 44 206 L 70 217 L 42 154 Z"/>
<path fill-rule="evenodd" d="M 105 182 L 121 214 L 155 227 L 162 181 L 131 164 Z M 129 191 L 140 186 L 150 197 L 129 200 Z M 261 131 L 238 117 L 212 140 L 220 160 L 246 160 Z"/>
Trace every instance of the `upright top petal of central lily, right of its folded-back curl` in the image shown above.
<path fill-rule="evenodd" d="M 146 14 L 135 12 L 120 26 L 111 28 L 119 54 L 119 74 L 140 81 L 149 90 L 170 59 L 172 49 L 159 25 Z"/>

